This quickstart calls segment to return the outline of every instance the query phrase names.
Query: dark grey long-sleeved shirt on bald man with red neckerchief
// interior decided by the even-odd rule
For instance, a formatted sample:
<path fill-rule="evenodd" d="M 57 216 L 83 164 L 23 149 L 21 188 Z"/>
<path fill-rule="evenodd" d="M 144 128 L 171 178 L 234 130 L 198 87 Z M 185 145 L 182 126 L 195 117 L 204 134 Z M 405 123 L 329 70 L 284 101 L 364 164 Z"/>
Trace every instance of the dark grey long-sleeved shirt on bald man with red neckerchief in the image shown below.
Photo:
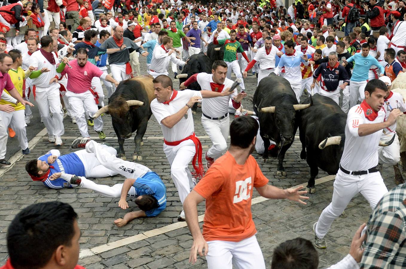
<path fill-rule="evenodd" d="M 119 51 L 119 52 L 114 52 L 112 54 L 108 54 L 108 62 L 110 65 L 115 65 L 115 64 L 122 64 L 123 62 L 129 62 L 130 61 L 130 49 L 131 50 L 136 50 L 136 52 L 143 54 L 145 50 L 143 50 L 141 47 L 138 47 L 136 43 L 132 42 L 131 39 L 127 37 L 123 37 L 123 45 L 126 46 L 125 49 Z M 115 49 L 118 48 L 116 41 L 114 41 L 113 37 L 109 37 L 106 41 L 103 42 L 103 44 L 100 46 L 102 49 Z"/>

